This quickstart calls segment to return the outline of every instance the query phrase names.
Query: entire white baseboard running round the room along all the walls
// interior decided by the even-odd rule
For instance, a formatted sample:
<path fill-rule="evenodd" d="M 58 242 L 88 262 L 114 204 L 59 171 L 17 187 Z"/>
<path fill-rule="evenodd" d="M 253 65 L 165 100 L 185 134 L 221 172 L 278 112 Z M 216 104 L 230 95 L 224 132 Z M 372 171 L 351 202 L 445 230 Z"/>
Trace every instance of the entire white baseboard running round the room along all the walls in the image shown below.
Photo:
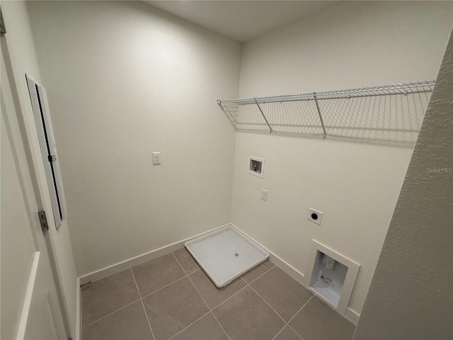
<path fill-rule="evenodd" d="M 201 234 L 197 234 L 197 235 L 195 235 L 193 237 L 189 237 L 188 239 L 183 239 L 183 240 L 175 242 L 173 244 L 168 244 L 168 246 L 163 246 L 163 247 L 161 247 L 159 249 L 156 249 L 156 250 L 153 250 L 153 251 L 149 251 L 146 254 L 135 256 L 132 259 L 128 259 L 126 261 L 122 261 L 120 263 L 116 263 L 116 264 L 114 264 L 112 266 L 108 266 L 108 267 L 102 268 L 102 269 L 100 269 L 98 271 L 93 271 L 92 273 L 89 273 L 89 274 L 86 274 L 84 276 L 81 276 L 78 279 L 79 280 L 78 287 L 80 285 L 84 285 L 85 283 L 88 283 L 90 281 L 101 280 L 101 278 L 106 278 L 107 276 L 110 276 L 110 275 L 113 275 L 113 274 L 116 274 L 116 273 L 120 273 L 120 271 L 125 271 L 127 268 L 130 268 L 130 267 L 133 267 L 133 266 L 137 266 L 140 263 L 144 263 L 146 261 L 157 259 L 159 256 L 163 256 L 163 255 L 171 253 L 171 251 L 175 251 L 175 250 L 178 250 L 180 248 L 183 248 L 185 242 L 188 242 L 191 239 L 195 239 L 197 237 L 203 236 L 203 235 L 208 234 L 210 232 L 214 232 L 215 230 L 223 228 L 223 227 L 226 227 L 228 225 L 231 225 L 231 227 L 234 227 L 236 230 L 238 230 L 238 232 L 241 232 L 242 234 L 244 234 L 246 237 L 248 237 L 253 242 L 258 244 L 260 247 L 265 249 L 265 251 L 268 251 L 270 261 L 275 263 L 275 265 L 278 266 L 280 269 L 282 269 L 282 271 L 285 271 L 285 273 L 287 273 L 289 276 L 294 278 L 294 280 L 297 280 L 297 282 L 299 282 L 301 285 L 303 285 L 306 288 L 306 285 L 304 285 L 304 274 L 303 273 L 301 273 L 296 268 L 291 266 L 289 263 L 287 263 L 287 261 L 285 261 L 282 258 L 280 258 L 280 256 L 275 255 L 272 251 L 270 251 L 268 248 L 263 246 L 263 244 L 260 244 L 259 242 L 257 242 L 256 239 L 253 239 L 253 237 L 250 237 L 248 234 L 243 232 L 241 229 L 239 229 L 238 227 L 236 227 L 232 223 L 228 223 L 226 225 L 221 225 L 220 227 L 216 227 L 214 229 L 210 229 L 207 232 L 202 232 Z M 309 289 L 309 288 L 307 288 L 307 289 Z M 79 300 L 80 300 L 80 292 L 79 292 Z M 79 301 L 79 304 L 80 304 L 80 301 Z M 338 313 L 338 314 L 340 314 L 340 313 Z M 358 314 L 354 310 L 351 310 L 349 307 L 348 307 L 348 310 L 346 310 L 345 315 L 343 315 L 343 314 L 340 314 L 340 315 L 345 317 L 346 319 L 349 319 L 349 321 L 354 323 L 354 324 L 357 324 L 357 322 L 359 320 L 359 317 L 360 317 L 360 314 Z M 81 322 L 81 318 L 79 317 L 79 323 L 80 322 Z M 76 337 L 76 340 L 79 340 L 79 339 L 80 339 L 80 337 L 79 338 Z"/>

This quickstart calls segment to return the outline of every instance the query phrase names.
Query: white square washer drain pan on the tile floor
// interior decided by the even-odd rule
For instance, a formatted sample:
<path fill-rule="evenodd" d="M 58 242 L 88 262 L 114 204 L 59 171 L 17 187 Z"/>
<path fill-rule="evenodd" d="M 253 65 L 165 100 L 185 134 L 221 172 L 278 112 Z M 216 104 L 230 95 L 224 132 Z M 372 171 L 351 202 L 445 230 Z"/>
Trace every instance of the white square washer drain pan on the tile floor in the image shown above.
<path fill-rule="evenodd" d="M 231 226 L 185 242 L 185 247 L 219 288 L 269 257 L 267 251 Z"/>

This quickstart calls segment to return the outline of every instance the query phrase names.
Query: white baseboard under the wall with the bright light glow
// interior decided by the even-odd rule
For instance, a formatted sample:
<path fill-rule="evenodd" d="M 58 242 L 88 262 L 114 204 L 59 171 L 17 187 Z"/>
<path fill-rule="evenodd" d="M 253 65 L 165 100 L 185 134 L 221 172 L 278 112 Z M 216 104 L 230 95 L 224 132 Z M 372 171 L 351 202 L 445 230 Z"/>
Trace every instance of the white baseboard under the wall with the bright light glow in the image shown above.
<path fill-rule="evenodd" d="M 113 275 L 116 273 L 120 273 L 120 271 L 125 271 L 127 268 L 137 266 L 146 261 L 157 259 L 159 256 L 163 256 L 163 255 L 171 253 L 171 251 L 175 251 L 180 248 L 183 248 L 185 242 L 188 242 L 191 239 L 196 239 L 197 237 L 203 236 L 204 234 L 207 234 L 209 232 L 214 232 L 215 230 L 226 227 L 228 225 L 230 225 L 230 224 L 228 223 L 226 225 L 221 225 L 220 227 L 210 229 L 207 232 L 202 232 L 201 234 L 197 234 L 193 237 L 189 237 L 187 239 L 183 239 L 181 241 L 178 241 L 178 242 L 175 242 L 172 244 L 168 244 L 168 246 L 162 246 L 159 249 L 155 249 L 153 251 L 149 251 L 148 253 L 145 253 L 145 254 L 142 254 L 139 256 L 135 256 L 132 259 L 128 259 L 128 260 L 122 261 L 120 263 L 113 264 L 112 266 L 108 266 L 108 267 L 99 269 L 98 271 L 93 271 L 91 273 L 88 273 L 79 278 L 79 280 L 80 280 L 79 286 L 84 285 L 90 281 L 93 282 L 93 281 L 101 280 L 101 278 L 106 278 L 107 276 L 110 276 L 110 275 Z"/>

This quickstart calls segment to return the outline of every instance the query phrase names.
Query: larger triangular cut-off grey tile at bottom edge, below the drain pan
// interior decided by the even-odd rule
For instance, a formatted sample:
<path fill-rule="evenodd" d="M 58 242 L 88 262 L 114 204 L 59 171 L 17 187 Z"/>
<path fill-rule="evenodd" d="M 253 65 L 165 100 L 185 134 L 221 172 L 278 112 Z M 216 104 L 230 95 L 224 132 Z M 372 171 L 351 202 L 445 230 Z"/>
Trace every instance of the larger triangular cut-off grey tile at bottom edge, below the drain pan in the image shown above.
<path fill-rule="evenodd" d="M 214 318 L 212 313 L 206 314 L 195 324 L 184 329 L 174 340 L 228 340 L 219 322 Z M 172 339 L 172 340 L 173 340 Z"/>

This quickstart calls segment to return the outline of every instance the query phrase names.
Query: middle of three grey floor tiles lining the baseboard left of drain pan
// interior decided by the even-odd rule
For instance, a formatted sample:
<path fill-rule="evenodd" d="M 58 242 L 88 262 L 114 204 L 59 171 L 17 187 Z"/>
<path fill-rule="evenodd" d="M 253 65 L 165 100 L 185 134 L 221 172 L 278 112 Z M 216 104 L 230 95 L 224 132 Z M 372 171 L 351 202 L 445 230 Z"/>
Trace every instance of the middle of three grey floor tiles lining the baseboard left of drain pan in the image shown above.
<path fill-rule="evenodd" d="M 185 276 L 183 269 L 171 253 L 134 266 L 132 271 L 142 297 Z"/>

